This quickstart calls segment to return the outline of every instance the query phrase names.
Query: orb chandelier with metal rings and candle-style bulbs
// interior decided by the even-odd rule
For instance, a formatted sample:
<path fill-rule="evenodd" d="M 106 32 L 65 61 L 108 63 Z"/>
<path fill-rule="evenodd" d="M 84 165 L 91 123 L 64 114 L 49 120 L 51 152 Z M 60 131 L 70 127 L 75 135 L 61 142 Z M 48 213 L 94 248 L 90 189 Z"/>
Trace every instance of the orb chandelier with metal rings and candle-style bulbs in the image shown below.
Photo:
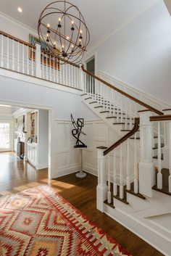
<path fill-rule="evenodd" d="M 54 1 L 41 12 L 38 36 L 42 48 L 60 59 L 75 64 L 83 59 L 90 33 L 78 7 L 68 1 Z M 62 61 L 63 60 L 63 61 Z"/>

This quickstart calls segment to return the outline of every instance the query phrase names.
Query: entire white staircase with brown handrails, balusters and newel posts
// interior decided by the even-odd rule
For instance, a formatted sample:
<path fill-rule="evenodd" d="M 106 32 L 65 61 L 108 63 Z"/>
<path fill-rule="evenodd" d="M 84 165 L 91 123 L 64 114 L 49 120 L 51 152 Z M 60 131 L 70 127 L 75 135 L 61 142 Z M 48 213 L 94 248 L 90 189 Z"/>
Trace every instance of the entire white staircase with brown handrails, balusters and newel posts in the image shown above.
<path fill-rule="evenodd" d="M 98 148 L 97 208 L 171 255 L 171 111 L 83 70 L 82 101 L 117 135 Z"/>

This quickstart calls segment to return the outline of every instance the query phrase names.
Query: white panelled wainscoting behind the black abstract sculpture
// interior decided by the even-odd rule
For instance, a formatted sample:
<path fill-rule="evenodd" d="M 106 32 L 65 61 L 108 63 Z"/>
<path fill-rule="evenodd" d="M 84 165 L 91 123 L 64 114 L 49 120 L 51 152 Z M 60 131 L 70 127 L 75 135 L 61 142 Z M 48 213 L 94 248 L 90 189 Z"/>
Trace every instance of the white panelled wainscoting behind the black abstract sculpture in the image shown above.
<path fill-rule="evenodd" d="M 55 120 L 56 177 L 80 170 L 78 150 L 73 147 L 75 145 L 75 139 L 72 137 L 72 128 L 73 126 L 70 120 Z M 83 170 L 97 176 L 96 147 L 111 146 L 119 138 L 102 120 L 86 120 L 83 131 L 86 133 L 86 136 L 81 136 L 80 138 L 88 146 L 86 149 L 83 149 Z M 112 153 L 110 155 L 112 156 Z M 117 154 L 117 157 L 119 160 L 119 154 Z M 123 157 L 126 157 L 124 152 Z"/>

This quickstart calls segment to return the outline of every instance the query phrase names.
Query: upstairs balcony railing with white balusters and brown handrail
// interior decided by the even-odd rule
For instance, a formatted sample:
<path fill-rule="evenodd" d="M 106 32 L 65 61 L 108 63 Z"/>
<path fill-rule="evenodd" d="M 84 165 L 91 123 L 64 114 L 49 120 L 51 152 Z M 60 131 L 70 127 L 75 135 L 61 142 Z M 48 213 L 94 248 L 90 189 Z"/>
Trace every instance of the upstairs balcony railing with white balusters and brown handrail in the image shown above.
<path fill-rule="evenodd" d="M 62 59 L 64 61 L 64 59 Z M 19 38 L 0 31 L 0 67 L 64 86 L 81 89 L 80 66 L 65 61 Z"/>

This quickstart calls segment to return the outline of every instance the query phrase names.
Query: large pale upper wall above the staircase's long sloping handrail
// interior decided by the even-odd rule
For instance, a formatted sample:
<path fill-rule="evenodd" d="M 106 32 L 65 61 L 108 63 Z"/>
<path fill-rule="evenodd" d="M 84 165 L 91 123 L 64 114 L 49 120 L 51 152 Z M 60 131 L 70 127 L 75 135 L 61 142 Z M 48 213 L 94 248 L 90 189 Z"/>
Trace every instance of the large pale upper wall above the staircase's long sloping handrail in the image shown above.
<path fill-rule="evenodd" d="M 103 71 L 171 104 L 171 18 L 162 0 L 128 23 L 96 52 Z"/>

